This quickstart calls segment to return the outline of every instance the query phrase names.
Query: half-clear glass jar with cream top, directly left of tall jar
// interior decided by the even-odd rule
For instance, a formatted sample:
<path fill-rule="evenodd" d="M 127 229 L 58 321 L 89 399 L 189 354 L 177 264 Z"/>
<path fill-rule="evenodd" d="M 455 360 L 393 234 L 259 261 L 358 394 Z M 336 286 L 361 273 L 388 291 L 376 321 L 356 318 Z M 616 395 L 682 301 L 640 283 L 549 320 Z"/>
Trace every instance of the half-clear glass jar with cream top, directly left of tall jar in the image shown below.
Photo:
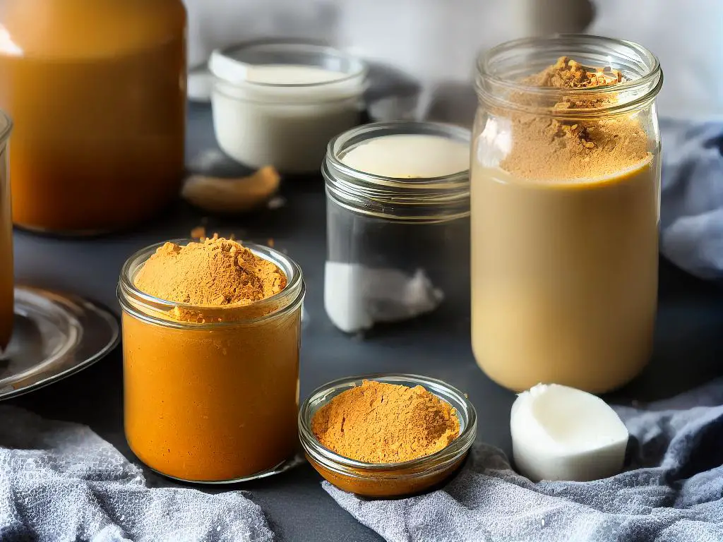
<path fill-rule="evenodd" d="M 469 131 L 383 122 L 332 139 L 324 302 L 355 333 L 469 306 Z"/>

